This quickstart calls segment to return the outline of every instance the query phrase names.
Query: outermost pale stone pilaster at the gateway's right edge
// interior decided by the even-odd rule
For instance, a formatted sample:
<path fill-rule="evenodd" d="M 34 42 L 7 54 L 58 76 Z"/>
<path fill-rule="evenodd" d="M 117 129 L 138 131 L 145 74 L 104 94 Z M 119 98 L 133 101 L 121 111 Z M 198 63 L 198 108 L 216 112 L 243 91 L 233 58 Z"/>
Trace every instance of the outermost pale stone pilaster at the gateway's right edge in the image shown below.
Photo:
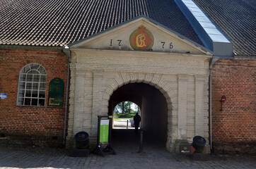
<path fill-rule="evenodd" d="M 195 75 L 195 135 L 204 137 L 204 75 Z"/>

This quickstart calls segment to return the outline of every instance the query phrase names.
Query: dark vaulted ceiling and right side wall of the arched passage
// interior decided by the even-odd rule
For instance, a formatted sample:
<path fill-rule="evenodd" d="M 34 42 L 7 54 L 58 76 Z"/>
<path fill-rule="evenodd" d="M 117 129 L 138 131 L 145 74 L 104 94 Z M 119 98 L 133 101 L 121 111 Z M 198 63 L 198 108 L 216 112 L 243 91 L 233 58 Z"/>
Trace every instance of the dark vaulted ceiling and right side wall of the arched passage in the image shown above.
<path fill-rule="evenodd" d="M 146 138 L 166 142 L 168 136 L 168 103 L 156 87 L 146 83 L 129 83 L 110 96 L 108 115 L 113 115 L 121 101 L 132 101 L 141 109 L 141 127 Z M 151 136 L 151 137 L 149 137 Z"/>

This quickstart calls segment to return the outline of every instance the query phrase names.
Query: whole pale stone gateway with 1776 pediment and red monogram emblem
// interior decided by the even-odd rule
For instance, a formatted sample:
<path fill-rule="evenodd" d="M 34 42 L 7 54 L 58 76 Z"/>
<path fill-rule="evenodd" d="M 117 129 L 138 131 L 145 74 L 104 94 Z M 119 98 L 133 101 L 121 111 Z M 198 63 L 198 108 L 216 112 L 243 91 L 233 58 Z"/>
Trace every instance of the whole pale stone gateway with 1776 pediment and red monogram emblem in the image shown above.
<path fill-rule="evenodd" d="M 97 116 L 108 114 L 110 96 L 116 89 L 135 82 L 156 87 L 166 99 L 168 151 L 175 151 L 177 140 L 191 142 L 196 135 L 208 142 L 212 54 L 203 46 L 140 17 L 68 47 L 71 85 L 67 142 L 83 130 L 90 135 L 90 144 L 96 144 Z"/>

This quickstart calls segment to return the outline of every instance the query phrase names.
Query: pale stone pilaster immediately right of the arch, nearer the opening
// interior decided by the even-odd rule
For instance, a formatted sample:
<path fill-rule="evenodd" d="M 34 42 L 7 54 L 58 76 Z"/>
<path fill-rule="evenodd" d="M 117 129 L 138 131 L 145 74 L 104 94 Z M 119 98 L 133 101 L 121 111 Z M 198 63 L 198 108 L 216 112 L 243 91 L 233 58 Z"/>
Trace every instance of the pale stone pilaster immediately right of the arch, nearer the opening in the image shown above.
<path fill-rule="evenodd" d="M 187 75 L 178 75 L 178 139 L 187 140 Z"/>

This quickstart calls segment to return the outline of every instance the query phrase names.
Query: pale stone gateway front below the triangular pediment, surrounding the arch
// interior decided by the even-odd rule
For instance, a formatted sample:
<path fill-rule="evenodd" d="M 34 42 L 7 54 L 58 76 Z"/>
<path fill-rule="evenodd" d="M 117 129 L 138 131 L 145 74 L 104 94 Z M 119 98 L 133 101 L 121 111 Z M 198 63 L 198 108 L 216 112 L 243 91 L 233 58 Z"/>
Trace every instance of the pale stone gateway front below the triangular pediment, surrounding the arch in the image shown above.
<path fill-rule="evenodd" d="M 86 55 L 81 53 L 84 50 L 88 52 Z M 68 142 L 83 130 L 90 135 L 93 146 L 97 140 L 98 115 L 107 115 L 110 96 L 124 84 L 135 82 L 156 87 L 167 101 L 166 147 L 169 151 L 175 151 L 176 141 L 191 142 L 195 135 L 208 139 L 209 64 L 206 58 L 209 56 L 143 51 L 111 51 L 109 54 L 107 50 L 89 49 L 76 52 L 70 66 Z M 123 64 L 118 62 L 120 59 Z"/>

